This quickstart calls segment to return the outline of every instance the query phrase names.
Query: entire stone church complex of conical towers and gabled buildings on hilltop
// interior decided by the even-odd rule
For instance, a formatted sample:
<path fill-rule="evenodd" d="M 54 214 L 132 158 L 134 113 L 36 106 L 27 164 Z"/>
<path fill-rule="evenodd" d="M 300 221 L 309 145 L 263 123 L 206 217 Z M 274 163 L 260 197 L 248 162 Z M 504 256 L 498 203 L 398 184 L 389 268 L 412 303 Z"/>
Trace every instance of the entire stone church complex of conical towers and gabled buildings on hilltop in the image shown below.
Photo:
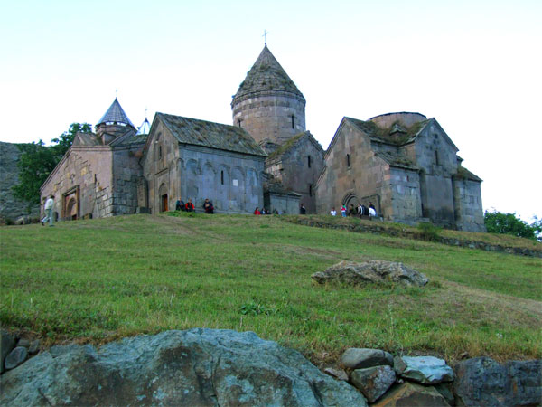
<path fill-rule="evenodd" d="M 267 46 L 231 102 L 232 125 L 156 113 L 135 128 L 118 100 L 78 134 L 42 185 L 63 220 L 170 210 L 209 198 L 219 213 L 329 213 L 377 206 L 386 220 L 483 230 L 480 178 L 434 118 L 343 118 L 322 146 L 305 128 L 305 99 Z"/>

